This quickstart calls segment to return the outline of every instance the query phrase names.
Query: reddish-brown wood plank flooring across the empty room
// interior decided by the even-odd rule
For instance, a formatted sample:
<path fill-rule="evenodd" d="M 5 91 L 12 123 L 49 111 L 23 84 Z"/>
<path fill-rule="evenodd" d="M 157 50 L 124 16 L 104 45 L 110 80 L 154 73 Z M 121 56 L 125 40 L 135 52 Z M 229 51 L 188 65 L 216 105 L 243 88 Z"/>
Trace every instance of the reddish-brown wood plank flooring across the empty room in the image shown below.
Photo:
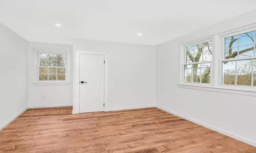
<path fill-rule="evenodd" d="M 256 147 L 158 108 L 72 115 L 28 109 L 0 131 L 0 152 L 256 153 Z"/>

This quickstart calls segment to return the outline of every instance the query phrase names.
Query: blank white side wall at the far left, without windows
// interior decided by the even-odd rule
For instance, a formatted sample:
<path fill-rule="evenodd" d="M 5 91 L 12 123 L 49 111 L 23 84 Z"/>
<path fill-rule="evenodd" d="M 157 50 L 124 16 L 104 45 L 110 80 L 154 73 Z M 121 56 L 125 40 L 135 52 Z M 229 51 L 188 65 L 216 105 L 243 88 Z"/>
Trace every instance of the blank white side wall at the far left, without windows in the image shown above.
<path fill-rule="evenodd" d="M 27 108 L 27 41 L 0 23 L 0 130 Z"/>

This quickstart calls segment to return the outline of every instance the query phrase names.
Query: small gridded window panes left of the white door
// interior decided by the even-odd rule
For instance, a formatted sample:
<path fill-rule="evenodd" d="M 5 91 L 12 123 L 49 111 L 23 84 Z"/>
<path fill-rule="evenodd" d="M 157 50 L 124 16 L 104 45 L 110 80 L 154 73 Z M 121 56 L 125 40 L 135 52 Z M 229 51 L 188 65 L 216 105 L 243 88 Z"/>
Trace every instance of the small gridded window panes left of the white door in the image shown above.
<path fill-rule="evenodd" d="M 38 53 L 38 80 L 65 81 L 66 54 Z"/>

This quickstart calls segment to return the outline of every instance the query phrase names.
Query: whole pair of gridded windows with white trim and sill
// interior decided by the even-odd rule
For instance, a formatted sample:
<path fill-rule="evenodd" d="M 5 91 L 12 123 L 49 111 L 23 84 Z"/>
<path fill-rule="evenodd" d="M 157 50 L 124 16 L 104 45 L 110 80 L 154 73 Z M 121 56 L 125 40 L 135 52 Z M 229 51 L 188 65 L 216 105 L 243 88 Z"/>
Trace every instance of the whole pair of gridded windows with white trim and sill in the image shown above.
<path fill-rule="evenodd" d="M 255 39 L 250 24 L 182 44 L 178 86 L 256 97 Z"/>

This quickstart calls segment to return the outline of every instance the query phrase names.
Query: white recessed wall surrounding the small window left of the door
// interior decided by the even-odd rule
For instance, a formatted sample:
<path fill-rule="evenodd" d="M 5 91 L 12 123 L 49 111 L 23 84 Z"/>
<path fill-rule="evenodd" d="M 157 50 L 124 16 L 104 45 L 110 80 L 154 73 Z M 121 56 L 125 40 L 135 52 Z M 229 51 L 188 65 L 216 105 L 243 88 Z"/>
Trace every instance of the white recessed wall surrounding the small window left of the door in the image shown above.
<path fill-rule="evenodd" d="M 33 48 L 46 49 L 67 49 L 71 50 L 72 45 L 49 44 L 49 43 L 35 43 L 28 44 L 28 107 L 54 107 L 54 106 L 70 106 L 72 105 L 72 81 L 69 85 L 33 85 L 35 77 L 34 72 L 37 71 L 33 65 L 37 57 L 32 53 Z M 71 57 L 72 63 L 72 57 Z M 72 78 L 71 78 L 72 80 Z M 42 97 L 45 96 L 45 99 Z"/>

